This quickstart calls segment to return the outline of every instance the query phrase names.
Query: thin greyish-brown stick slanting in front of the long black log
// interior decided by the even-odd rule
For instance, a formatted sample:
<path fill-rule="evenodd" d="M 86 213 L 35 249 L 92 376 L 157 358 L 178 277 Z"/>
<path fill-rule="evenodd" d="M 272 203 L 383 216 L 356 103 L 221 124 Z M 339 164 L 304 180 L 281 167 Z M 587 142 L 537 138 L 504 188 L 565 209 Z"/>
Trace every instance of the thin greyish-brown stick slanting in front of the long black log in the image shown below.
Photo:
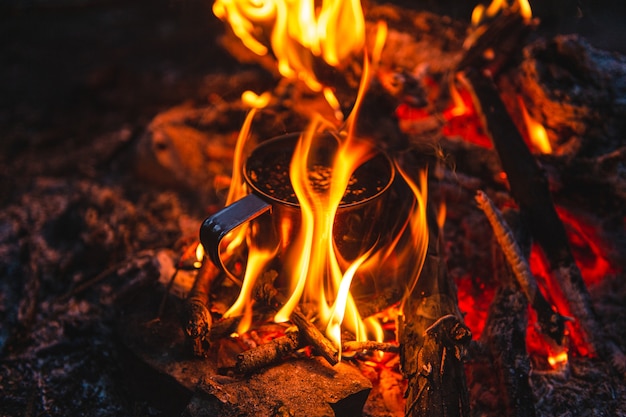
<path fill-rule="evenodd" d="M 487 216 L 493 228 L 494 236 L 511 266 L 517 283 L 530 305 L 537 312 L 541 331 L 550 336 L 557 344 L 562 344 L 567 318 L 555 311 L 541 291 L 539 291 L 537 281 L 530 271 L 530 265 L 517 244 L 513 232 L 504 221 L 500 210 L 496 208 L 487 194 L 482 191 L 477 192 L 476 202 Z"/>

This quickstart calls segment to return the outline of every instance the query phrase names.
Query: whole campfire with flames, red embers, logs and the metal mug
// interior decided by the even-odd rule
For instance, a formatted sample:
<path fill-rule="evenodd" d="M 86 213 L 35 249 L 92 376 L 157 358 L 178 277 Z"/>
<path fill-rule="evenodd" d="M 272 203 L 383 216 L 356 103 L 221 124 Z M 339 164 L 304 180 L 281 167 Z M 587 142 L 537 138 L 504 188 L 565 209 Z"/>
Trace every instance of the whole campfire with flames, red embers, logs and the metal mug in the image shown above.
<path fill-rule="evenodd" d="M 360 1 L 212 11 L 245 69 L 129 152 L 194 214 L 163 209 L 175 242 L 77 274 L 44 321 L 89 294 L 118 311 L 133 392 L 187 416 L 625 412 L 626 59 L 537 35 L 525 0 L 467 24 Z M 87 189 L 89 239 L 116 241 L 100 212 L 134 209 Z"/>

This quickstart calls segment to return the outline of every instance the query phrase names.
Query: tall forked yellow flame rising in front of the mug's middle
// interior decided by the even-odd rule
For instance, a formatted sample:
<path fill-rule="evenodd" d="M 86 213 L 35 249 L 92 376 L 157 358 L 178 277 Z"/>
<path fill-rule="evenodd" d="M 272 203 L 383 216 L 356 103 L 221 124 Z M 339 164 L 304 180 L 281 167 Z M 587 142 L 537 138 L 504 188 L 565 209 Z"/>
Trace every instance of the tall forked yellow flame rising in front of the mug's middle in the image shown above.
<path fill-rule="evenodd" d="M 327 332 L 340 348 L 339 325 L 344 317 L 346 327 L 357 336 L 357 340 L 365 340 L 367 337 L 356 303 L 348 291 L 354 274 L 367 256 L 359 257 L 345 274 L 342 272 L 341 257 L 337 254 L 333 240 L 334 220 L 353 172 L 371 157 L 372 148 L 366 142 L 339 138 L 343 140 L 332 165 L 330 187 L 320 193 L 314 189 L 307 164 L 316 138 L 314 127 L 312 125 L 298 142 L 290 167 L 290 178 L 300 203 L 302 221 L 287 260 L 287 268 L 294 275 L 291 296 L 276 314 L 275 321 L 288 320 L 304 297 L 317 305 L 319 319 L 323 323 L 330 323 Z"/>

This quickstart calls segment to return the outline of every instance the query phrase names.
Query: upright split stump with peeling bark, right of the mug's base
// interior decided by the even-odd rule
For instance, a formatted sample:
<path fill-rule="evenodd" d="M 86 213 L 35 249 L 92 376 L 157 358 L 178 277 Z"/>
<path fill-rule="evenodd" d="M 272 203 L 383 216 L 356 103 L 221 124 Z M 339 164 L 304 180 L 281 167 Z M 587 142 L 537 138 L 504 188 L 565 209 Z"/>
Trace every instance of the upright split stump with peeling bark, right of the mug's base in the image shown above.
<path fill-rule="evenodd" d="M 406 301 L 404 316 L 398 318 L 401 367 L 408 380 L 405 415 L 468 416 L 462 359 L 471 332 L 461 318 L 433 235 L 431 227 L 424 267 Z"/>

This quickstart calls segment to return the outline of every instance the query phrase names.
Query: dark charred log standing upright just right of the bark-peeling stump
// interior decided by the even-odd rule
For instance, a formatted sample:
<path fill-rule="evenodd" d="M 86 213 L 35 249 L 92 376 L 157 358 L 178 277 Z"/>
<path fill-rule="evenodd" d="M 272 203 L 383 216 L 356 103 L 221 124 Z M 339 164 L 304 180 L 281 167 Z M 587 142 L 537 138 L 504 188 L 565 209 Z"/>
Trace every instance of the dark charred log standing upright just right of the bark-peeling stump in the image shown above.
<path fill-rule="evenodd" d="M 519 220 L 517 212 L 509 211 L 505 216 Z M 528 255 L 530 236 L 520 236 L 523 231 L 516 228 L 516 241 L 523 247 L 521 255 Z M 510 235 L 513 237 L 512 235 Z M 505 247 L 498 241 L 500 251 L 495 259 L 494 271 L 500 287 L 491 304 L 482 338 L 491 353 L 498 381 L 504 390 L 504 406 L 507 416 L 534 417 L 536 415 L 533 392 L 529 383 L 530 361 L 526 352 L 526 329 L 528 327 L 528 301 L 514 266 L 506 258 Z"/>

